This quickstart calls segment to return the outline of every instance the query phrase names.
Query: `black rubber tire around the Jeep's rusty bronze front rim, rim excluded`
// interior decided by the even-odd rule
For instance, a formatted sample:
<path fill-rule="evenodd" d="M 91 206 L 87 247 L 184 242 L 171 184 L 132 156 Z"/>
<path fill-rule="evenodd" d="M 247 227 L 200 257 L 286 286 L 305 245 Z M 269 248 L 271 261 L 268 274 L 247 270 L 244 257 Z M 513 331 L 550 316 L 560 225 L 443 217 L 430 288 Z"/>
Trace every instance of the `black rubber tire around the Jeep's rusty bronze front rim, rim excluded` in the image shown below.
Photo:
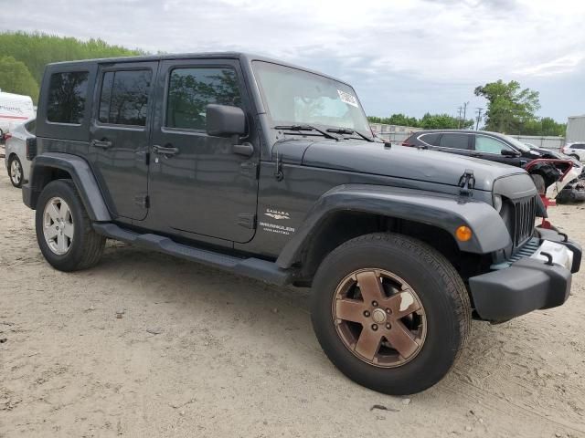
<path fill-rule="evenodd" d="M 414 359 L 395 368 L 361 360 L 335 328 L 332 300 L 337 286 L 364 268 L 384 269 L 404 278 L 426 314 L 422 347 Z M 471 331 L 471 304 L 461 276 L 431 246 L 403 235 L 363 235 L 338 246 L 317 270 L 311 306 L 314 332 L 335 366 L 351 380 L 391 395 L 424 391 L 441 381 L 461 355 Z"/>

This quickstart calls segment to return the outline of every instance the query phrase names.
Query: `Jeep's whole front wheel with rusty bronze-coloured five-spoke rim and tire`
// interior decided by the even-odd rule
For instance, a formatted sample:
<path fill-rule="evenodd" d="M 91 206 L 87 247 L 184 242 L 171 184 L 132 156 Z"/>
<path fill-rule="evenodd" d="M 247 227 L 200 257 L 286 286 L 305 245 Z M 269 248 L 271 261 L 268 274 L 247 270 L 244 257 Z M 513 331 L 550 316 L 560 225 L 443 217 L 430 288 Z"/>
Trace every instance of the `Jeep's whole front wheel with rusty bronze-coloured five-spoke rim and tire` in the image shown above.
<path fill-rule="evenodd" d="M 377 233 L 324 259 L 312 319 L 325 354 L 347 377 L 402 395 L 451 369 L 469 336 L 471 305 L 443 255 L 408 236 Z"/>

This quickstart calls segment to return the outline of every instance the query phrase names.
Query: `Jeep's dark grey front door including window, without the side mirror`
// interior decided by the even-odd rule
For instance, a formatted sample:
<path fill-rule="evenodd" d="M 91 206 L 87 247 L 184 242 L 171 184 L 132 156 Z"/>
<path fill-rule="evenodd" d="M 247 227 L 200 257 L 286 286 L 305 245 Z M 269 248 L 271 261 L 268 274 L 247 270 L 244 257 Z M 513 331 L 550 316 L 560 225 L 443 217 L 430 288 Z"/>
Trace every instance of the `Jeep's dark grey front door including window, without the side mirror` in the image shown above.
<path fill-rule="evenodd" d="M 166 60 L 156 83 L 149 198 L 161 231 L 250 241 L 255 232 L 260 148 L 250 128 L 251 105 L 235 59 Z M 207 134 L 208 104 L 240 107 L 245 139 Z M 247 141 L 251 156 L 234 153 Z M 197 238 L 197 236 L 195 236 Z"/>

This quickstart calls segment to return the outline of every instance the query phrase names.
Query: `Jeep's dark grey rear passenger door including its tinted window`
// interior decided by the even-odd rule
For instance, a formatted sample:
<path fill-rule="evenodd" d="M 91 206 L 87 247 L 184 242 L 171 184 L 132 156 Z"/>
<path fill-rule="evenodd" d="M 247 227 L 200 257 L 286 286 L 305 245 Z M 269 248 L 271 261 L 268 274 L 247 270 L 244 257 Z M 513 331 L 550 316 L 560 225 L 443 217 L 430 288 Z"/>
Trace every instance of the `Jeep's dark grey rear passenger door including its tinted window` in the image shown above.
<path fill-rule="evenodd" d="M 101 65 L 88 157 L 116 217 L 146 216 L 151 107 L 158 62 Z"/>

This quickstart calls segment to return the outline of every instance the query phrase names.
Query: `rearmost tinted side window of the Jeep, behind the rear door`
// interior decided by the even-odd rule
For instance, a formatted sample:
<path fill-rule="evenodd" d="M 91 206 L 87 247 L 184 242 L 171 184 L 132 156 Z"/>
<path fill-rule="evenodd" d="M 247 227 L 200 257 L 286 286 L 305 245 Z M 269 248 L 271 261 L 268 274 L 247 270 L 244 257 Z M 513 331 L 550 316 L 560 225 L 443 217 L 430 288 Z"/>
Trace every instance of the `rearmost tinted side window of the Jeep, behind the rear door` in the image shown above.
<path fill-rule="evenodd" d="M 48 84 L 47 120 L 80 125 L 88 94 L 87 71 L 53 73 Z"/>

